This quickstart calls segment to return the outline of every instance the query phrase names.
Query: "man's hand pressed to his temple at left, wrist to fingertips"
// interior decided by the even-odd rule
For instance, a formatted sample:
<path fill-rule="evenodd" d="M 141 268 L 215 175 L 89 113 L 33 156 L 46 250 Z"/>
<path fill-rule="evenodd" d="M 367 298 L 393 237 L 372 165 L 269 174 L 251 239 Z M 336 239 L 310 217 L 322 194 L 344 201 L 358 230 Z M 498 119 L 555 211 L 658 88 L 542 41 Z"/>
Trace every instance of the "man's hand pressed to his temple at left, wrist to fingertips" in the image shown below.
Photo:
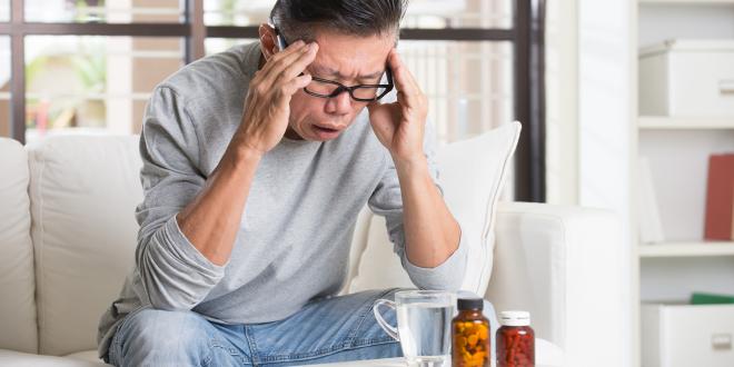
<path fill-rule="evenodd" d="M 290 98 L 311 81 L 310 75 L 301 73 L 314 62 L 317 51 L 316 42 L 294 42 L 272 54 L 255 73 L 235 136 L 242 148 L 261 156 L 282 139 L 288 128 Z"/>

